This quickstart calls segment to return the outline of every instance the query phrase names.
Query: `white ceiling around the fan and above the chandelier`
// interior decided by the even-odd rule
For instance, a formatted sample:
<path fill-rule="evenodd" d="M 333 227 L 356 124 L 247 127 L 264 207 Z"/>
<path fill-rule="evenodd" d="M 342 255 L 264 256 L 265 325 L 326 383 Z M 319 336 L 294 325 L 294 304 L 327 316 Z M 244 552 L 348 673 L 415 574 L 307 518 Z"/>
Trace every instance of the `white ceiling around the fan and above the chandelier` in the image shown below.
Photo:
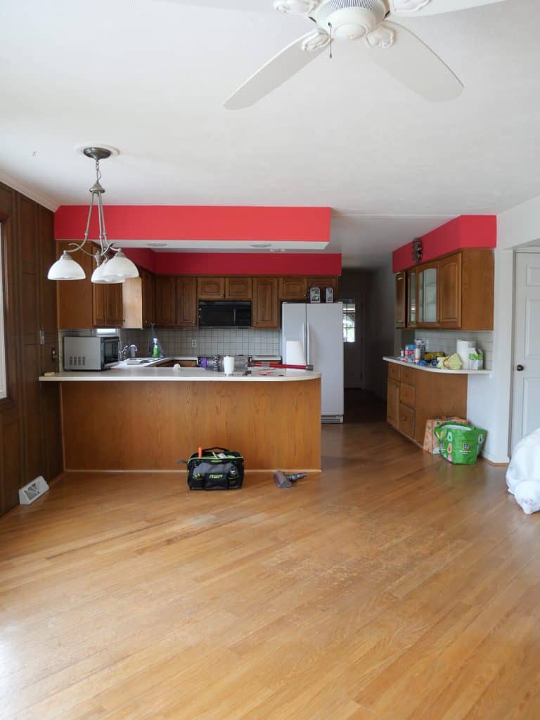
<path fill-rule="evenodd" d="M 270 2 L 270 0 L 269 0 Z M 429 104 L 354 42 L 251 109 L 222 101 L 307 29 L 279 13 L 153 0 L 2 0 L 0 171 L 84 203 L 83 143 L 116 145 L 104 197 L 123 204 L 330 205 L 348 266 L 450 217 L 540 193 L 538 0 L 403 22 L 462 79 Z"/>

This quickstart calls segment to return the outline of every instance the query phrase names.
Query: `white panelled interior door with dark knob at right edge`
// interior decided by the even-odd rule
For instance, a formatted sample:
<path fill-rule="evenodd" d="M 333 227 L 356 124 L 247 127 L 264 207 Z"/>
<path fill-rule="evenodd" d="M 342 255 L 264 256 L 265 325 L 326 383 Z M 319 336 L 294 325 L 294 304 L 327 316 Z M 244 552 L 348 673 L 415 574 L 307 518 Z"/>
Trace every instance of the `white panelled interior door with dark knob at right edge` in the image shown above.
<path fill-rule="evenodd" d="M 516 254 L 512 449 L 540 427 L 540 253 Z"/>

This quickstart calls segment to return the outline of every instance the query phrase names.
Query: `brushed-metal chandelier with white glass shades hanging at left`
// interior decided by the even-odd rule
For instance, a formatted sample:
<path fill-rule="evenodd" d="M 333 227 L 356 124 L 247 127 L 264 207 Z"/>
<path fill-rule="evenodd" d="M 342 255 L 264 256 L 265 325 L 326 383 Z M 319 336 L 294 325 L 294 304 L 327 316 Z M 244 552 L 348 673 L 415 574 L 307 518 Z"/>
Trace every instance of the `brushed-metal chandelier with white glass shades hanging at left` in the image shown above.
<path fill-rule="evenodd" d="M 100 180 L 102 179 L 99 170 L 99 161 L 106 160 L 112 154 L 118 154 L 114 148 L 83 148 L 82 152 L 87 158 L 91 158 L 96 163 L 96 181 L 90 188 L 91 198 L 88 210 L 88 219 L 86 220 L 86 230 L 81 243 L 70 243 L 72 250 L 65 250 L 60 259 L 50 266 L 48 271 L 48 279 L 50 280 L 84 280 L 86 277 L 84 269 L 73 260 L 71 253 L 80 250 L 86 255 L 91 255 L 96 261 L 96 269 L 92 273 L 91 282 L 96 284 L 114 284 L 124 282 L 125 279 L 138 277 L 139 271 L 137 266 L 127 258 L 120 248 L 115 248 L 107 239 L 107 229 L 105 228 L 105 216 L 103 212 L 102 195 L 105 192 Z M 97 208 L 97 220 L 99 226 L 99 248 L 94 253 L 84 248 L 90 233 L 90 222 L 94 204 Z"/>

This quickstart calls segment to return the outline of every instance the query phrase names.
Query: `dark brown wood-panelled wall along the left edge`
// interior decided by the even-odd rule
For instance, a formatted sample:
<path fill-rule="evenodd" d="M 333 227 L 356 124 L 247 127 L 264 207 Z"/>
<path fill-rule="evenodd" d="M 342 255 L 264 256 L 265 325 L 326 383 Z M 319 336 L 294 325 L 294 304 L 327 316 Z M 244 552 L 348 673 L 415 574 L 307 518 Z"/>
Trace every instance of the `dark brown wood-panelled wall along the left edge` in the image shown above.
<path fill-rule="evenodd" d="M 1 251 L 8 397 L 0 400 L 0 513 L 19 502 L 22 485 L 62 472 L 60 399 L 38 377 L 56 370 L 53 213 L 0 184 Z"/>

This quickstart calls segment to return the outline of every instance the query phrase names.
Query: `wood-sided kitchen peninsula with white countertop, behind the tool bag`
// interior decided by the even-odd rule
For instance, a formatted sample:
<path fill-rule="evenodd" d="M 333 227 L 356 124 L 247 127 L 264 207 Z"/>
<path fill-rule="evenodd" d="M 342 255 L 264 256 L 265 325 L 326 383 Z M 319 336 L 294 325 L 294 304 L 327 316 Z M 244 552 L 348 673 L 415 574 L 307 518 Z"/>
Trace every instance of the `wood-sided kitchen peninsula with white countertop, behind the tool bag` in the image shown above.
<path fill-rule="evenodd" d="M 40 381 L 60 382 L 66 471 L 177 470 L 199 446 L 239 451 L 246 470 L 320 470 L 318 372 L 136 367 Z"/>

